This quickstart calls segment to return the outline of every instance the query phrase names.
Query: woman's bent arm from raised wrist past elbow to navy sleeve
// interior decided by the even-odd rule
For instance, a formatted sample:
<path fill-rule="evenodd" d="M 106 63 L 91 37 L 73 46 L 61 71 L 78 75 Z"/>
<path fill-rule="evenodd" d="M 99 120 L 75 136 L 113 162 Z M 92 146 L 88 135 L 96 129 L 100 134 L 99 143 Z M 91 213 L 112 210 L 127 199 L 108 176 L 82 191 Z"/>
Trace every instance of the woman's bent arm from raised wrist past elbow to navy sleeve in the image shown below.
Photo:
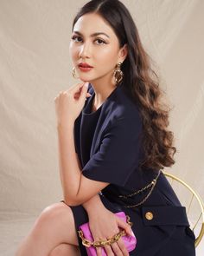
<path fill-rule="evenodd" d="M 74 121 L 59 124 L 59 164 L 64 200 L 67 205 L 78 206 L 97 195 L 110 183 L 93 181 L 82 175 L 75 153 L 73 138 Z"/>

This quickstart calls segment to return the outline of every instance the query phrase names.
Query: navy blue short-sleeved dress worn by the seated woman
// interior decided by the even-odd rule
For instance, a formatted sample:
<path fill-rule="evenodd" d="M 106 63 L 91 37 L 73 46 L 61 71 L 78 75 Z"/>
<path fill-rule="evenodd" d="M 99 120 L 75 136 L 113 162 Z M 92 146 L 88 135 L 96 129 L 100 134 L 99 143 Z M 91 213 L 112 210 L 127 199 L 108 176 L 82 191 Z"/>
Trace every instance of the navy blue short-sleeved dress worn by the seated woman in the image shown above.
<path fill-rule="evenodd" d="M 148 189 L 128 199 L 119 197 L 145 187 L 159 171 L 138 168 L 143 159 L 142 119 L 123 83 L 95 112 L 92 112 L 95 93 L 91 84 L 88 92 L 92 96 L 74 123 L 75 150 L 86 178 L 111 183 L 99 193 L 105 207 L 112 213 L 124 211 L 131 217 L 137 247 L 130 255 L 194 256 L 194 233 L 189 228 L 185 207 L 181 206 L 163 173 L 141 206 L 127 207 L 141 202 L 150 192 Z M 77 231 L 88 221 L 88 215 L 82 205 L 71 209 Z M 146 213 L 151 213 L 151 218 L 147 218 Z M 80 253 L 86 256 L 86 248 L 78 233 L 77 236 Z"/>

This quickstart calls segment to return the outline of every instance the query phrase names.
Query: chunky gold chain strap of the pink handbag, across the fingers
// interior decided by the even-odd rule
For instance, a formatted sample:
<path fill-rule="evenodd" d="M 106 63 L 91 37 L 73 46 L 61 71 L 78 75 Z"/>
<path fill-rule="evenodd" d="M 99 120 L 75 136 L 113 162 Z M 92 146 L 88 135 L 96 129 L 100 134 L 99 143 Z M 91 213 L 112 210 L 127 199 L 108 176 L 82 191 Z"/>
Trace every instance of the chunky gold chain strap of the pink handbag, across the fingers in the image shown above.
<path fill-rule="evenodd" d="M 133 225 L 133 223 L 130 221 L 130 216 L 126 215 L 126 221 L 130 226 Z M 84 245 L 86 247 L 90 247 L 90 246 L 100 247 L 100 246 L 105 246 L 105 245 L 110 246 L 110 245 L 112 245 L 112 243 L 117 242 L 122 236 L 126 235 L 124 230 L 122 230 L 119 233 L 112 236 L 111 239 L 99 240 L 99 241 L 90 241 L 90 240 L 86 240 L 86 238 L 84 237 L 84 234 L 81 230 L 78 230 L 78 233 L 79 233 L 80 238 L 82 240 L 82 245 Z"/>

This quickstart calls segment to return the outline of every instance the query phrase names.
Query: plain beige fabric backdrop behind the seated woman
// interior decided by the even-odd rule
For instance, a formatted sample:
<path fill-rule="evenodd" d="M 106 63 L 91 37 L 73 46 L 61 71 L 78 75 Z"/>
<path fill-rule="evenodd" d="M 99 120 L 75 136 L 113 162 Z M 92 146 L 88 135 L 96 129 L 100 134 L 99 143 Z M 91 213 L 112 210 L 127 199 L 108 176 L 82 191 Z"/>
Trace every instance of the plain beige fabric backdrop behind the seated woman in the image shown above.
<path fill-rule="evenodd" d="M 54 97 L 76 82 L 68 45 L 73 16 L 86 2 L 0 0 L 1 255 L 12 255 L 35 216 L 61 200 Z M 203 197 L 204 1 L 122 2 L 173 108 L 177 154 L 168 171 Z"/>

